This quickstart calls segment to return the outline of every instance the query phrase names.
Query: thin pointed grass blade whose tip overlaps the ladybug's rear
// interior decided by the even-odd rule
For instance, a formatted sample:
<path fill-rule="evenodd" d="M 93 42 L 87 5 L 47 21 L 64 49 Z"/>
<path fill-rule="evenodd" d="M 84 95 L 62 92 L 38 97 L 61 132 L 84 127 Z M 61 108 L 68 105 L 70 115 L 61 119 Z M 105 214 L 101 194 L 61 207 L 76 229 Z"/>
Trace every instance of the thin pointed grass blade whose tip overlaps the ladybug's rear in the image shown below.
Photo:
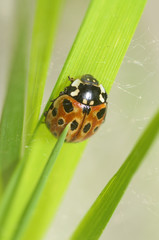
<path fill-rule="evenodd" d="M 62 132 L 60 138 L 58 139 L 57 143 L 55 144 L 54 149 L 52 150 L 50 157 L 44 167 L 44 170 L 40 176 L 40 179 L 37 183 L 37 186 L 34 189 L 34 192 L 32 193 L 32 196 L 19 220 L 19 224 L 17 225 L 17 229 L 15 231 L 15 234 L 13 235 L 13 237 L 11 239 L 13 240 L 18 240 L 21 238 L 33 212 L 34 209 L 37 205 L 37 202 L 42 194 L 42 191 L 48 181 L 48 177 L 51 173 L 51 170 L 54 166 L 54 163 L 58 157 L 58 154 L 62 148 L 62 145 L 64 143 L 64 140 L 66 138 L 67 132 L 68 132 L 68 128 L 69 126 L 67 126 L 64 131 Z"/>

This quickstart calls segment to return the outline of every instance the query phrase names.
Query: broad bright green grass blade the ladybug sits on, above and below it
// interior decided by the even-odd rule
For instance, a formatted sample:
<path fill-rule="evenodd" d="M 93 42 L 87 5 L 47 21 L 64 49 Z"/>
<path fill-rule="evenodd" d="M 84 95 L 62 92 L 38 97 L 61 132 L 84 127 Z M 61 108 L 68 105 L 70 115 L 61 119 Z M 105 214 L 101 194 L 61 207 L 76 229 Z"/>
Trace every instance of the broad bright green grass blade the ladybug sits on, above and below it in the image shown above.
<path fill-rule="evenodd" d="M 92 0 L 50 98 L 57 97 L 59 92 L 68 85 L 68 75 L 79 77 L 85 73 L 94 75 L 109 93 L 145 3 L 146 0 Z M 48 106 L 49 102 L 46 109 L 48 109 Z M 37 134 L 41 135 L 43 131 L 45 131 L 44 127 L 39 124 Z M 50 133 L 46 134 L 48 139 L 51 140 Z M 46 231 L 86 144 L 86 142 L 83 142 L 79 143 L 78 146 L 74 144 L 64 145 L 54 168 L 54 173 L 50 177 L 25 234 L 25 240 L 30 237 L 39 239 Z M 46 145 L 43 148 L 46 149 Z M 49 146 L 47 146 L 47 149 L 49 149 Z M 47 154 L 48 152 L 46 152 Z M 31 157 L 30 160 L 33 161 L 33 158 Z M 47 204 L 45 196 L 47 196 Z M 43 214 L 43 218 L 40 218 L 40 214 Z M 34 231 L 37 222 L 40 229 Z"/>

